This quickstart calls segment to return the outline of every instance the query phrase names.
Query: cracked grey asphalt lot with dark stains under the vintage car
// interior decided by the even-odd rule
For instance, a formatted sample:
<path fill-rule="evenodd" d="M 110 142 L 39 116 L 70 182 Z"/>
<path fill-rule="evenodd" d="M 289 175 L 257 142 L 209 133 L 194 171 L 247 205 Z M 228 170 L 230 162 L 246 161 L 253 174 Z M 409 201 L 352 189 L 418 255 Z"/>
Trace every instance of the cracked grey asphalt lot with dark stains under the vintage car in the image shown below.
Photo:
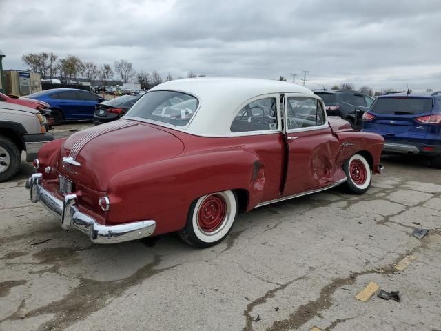
<path fill-rule="evenodd" d="M 205 250 L 173 234 L 94 245 L 63 232 L 30 203 L 24 164 L 0 183 L 0 330 L 441 330 L 441 170 L 382 164 L 365 195 L 329 190 L 240 214 Z M 419 240 L 416 228 L 430 232 Z M 355 299 L 369 281 L 401 301 Z"/>

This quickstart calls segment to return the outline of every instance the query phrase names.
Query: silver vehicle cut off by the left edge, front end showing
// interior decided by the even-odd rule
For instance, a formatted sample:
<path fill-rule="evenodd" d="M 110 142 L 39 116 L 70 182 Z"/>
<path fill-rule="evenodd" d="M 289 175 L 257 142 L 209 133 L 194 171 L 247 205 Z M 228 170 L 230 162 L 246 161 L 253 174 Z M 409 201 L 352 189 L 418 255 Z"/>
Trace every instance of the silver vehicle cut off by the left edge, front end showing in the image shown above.
<path fill-rule="evenodd" d="M 43 143 L 54 140 L 46 119 L 36 109 L 0 101 L 0 182 L 17 174 L 21 152 L 31 162 Z"/>

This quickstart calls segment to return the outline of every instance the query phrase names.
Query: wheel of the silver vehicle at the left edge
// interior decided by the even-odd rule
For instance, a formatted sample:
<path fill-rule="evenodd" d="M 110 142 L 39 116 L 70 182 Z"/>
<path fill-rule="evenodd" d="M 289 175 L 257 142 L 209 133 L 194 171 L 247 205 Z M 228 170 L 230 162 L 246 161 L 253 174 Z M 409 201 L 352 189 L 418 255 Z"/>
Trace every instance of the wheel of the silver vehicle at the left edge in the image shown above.
<path fill-rule="evenodd" d="M 0 182 L 10 179 L 20 169 L 20 150 L 15 143 L 0 136 Z"/>

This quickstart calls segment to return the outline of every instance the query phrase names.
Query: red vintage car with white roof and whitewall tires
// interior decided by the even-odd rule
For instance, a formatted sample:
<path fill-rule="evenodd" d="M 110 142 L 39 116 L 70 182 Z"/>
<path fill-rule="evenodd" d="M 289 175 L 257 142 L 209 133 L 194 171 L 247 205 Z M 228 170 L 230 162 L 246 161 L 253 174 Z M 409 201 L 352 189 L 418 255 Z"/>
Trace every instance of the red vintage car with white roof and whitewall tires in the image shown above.
<path fill-rule="evenodd" d="M 366 192 L 383 143 L 292 83 L 180 79 L 118 121 L 46 143 L 27 186 L 61 228 L 95 243 L 178 232 L 208 247 L 239 211 L 336 185 Z"/>

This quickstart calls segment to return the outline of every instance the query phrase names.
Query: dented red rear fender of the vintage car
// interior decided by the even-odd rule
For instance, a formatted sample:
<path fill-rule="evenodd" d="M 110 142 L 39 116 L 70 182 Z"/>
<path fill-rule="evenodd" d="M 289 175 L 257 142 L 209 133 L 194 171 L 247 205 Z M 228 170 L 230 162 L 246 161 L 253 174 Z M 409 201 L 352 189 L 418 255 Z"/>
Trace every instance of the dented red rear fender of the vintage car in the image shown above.
<path fill-rule="evenodd" d="M 181 230 L 192 202 L 224 190 L 246 190 L 248 205 L 263 199 L 265 172 L 242 148 L 187 154 L 116 174 L 107 188 L 110 212 L 106 223 L 142 219 L 156 221 L 155 234 Z"/>

